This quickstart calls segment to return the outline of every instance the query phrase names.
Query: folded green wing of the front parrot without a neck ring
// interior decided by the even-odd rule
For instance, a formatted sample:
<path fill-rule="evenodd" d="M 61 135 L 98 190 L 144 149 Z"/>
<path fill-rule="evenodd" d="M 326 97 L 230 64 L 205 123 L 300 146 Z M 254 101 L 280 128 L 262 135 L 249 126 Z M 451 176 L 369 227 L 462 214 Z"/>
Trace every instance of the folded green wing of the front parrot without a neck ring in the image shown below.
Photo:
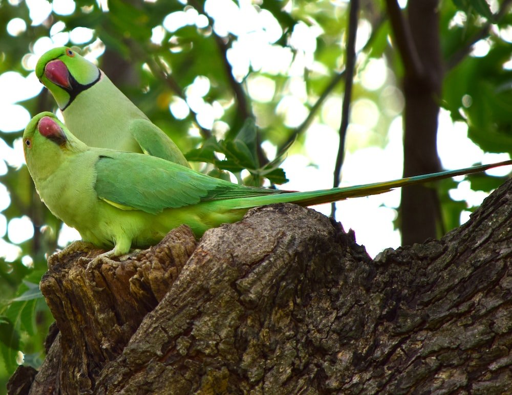
<path fill-rule="evenodd" d="M 209 177 L 192 169 L 131 152 L 111 151 L 96 163 L 98 197 L 125 210 L 157 214 L 201 202 L 278 194 Z"/>

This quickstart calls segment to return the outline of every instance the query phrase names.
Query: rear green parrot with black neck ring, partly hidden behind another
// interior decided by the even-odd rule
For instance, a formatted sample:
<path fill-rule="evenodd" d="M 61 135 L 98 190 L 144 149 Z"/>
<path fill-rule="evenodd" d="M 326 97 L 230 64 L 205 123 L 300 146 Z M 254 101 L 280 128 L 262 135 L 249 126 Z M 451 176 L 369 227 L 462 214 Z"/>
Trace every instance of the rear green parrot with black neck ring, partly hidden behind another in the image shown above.
<path fill-rule="evenodd" d="M 173 140 L 105 73 L 72 49 L 46 52 L 35 72 L 55 98 L 68 128 L 87 145 L 143 152 L 190 167 Z"/>

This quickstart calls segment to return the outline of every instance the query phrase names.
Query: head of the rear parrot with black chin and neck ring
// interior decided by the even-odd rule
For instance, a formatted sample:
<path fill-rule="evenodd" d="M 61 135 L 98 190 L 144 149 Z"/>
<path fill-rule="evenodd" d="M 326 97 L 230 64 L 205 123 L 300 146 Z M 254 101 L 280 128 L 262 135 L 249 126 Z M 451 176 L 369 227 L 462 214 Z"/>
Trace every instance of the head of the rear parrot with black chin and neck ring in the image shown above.
<path fill-rule="evenodd" d="M 68 47 L 54 48 L 42 55 L 35 73 L 61 110 L 101 78 L 101 71 L 96 65 Z"/>

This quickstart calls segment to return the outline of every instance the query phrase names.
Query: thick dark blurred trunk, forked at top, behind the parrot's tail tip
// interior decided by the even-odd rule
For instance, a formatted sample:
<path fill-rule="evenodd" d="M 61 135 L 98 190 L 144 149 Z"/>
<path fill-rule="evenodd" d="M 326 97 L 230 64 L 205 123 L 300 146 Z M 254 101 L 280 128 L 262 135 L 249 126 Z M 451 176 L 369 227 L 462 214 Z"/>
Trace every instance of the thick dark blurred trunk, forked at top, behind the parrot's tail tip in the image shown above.
<path fill-rule="evenodd" d="M 391 25 L 404 63 L 403 177 L 441 170 L 437 126 L 443 64 L 438 0 L 409 2 L 404 18 L 396 0 L 387 0 Z M 422 243 L 442 228 L 437 193 L 424 186 L 402 188 L 402 245 Z"/>

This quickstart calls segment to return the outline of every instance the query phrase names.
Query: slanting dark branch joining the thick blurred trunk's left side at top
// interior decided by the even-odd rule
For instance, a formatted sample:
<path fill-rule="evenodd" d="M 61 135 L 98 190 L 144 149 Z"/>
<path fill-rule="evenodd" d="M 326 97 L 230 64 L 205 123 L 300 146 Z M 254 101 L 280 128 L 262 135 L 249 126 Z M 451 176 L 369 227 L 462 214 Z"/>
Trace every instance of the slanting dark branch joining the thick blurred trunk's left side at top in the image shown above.
<path fill-rule="evenodd" d="M 414 45 L 411 29 L 403 17 L 397 0 L 386 0 L 386 5 L 404 67 L 408 70 L 409 75 L 420 77 L 424 74 L 424 69 Z"/>

